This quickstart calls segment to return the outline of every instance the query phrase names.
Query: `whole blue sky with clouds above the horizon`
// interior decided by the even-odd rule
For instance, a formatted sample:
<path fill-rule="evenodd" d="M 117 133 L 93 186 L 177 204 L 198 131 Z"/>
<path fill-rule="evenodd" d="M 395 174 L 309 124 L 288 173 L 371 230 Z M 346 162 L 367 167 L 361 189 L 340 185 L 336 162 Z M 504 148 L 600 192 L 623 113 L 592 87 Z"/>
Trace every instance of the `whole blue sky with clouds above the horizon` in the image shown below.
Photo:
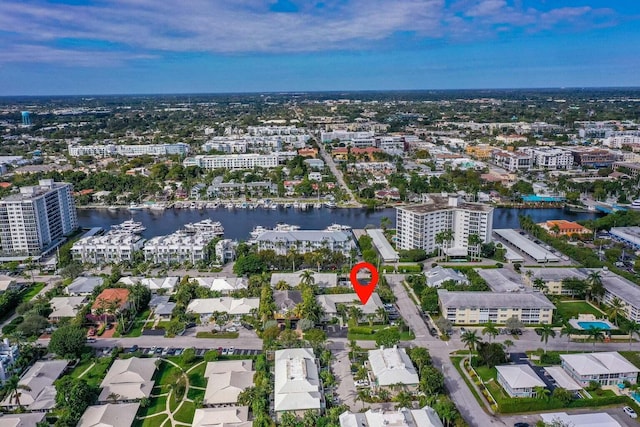
<path fill-rule="evenodd" d="M 640 86 L 636 0 L 2 0 L 0 95 Z"/>

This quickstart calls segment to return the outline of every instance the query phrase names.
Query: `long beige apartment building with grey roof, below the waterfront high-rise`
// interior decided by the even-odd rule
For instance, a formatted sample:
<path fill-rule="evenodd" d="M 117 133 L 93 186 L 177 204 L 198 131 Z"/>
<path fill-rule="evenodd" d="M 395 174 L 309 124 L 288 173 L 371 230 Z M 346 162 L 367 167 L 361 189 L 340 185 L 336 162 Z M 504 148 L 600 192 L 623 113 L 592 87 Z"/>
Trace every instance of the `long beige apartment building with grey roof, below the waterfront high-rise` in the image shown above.
<path fill-rule="evenodd" d="M 504 324 L 512 317 L 524 324 L 550 324 L 555 306 L 539 292 L 450 292 L 438 290 L 442 315 L 454 324 L 492 321 Z"/>

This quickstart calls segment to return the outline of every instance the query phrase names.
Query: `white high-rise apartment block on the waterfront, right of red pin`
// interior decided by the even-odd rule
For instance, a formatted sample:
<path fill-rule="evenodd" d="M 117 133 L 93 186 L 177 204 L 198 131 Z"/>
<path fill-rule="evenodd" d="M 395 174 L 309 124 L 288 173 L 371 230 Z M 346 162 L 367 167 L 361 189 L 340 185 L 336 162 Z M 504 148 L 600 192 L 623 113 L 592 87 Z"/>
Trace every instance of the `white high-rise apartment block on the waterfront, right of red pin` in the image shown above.
<path fill-rule="evenodd" d="M 472 234 L 483 242 L 491 240 L 493 207 L 469 203 L 457 195 L 425 194 L 422 204 L 396 208 L 397 248 L 424 249 L 432 253 L 438 249 L 436 236 L 453 232 L 453 240 L 444 244 L 452 256 L 466 256 L 476 251 L 469 247 Z"/>

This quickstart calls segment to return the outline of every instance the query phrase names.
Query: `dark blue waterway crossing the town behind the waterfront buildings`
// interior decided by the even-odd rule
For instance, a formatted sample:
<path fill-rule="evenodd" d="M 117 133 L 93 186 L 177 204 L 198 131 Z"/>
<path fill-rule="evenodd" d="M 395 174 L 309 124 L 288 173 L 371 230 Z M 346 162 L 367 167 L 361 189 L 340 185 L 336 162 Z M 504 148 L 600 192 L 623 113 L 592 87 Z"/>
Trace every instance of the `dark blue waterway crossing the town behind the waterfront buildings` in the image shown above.
<path fill-rule="evenodd" d="M 597 213 L 570 213 L 563 209 L 505 209 L 498 208 L 493 213 L 494 228 L 517 228 L 518 215 L 526 214 L 533 217 L 536 222 L 548 219 L 567 219 L 576 221 L 580 219 L 597 218 Z M 82 227 L 109 228 L 127 219 L 140 221 L 147 227 L 142 233 L 150 238 L 164 234 L 170 234 L 180 229 L 184 224 L 211 218 L 220 221 L 224 226 L 225 237 L 246 240 L 249 232 L 257 225 L 273 227 L 279 222 L 299 225 L 302 229 L 323 229 L 331 224 L 349 225 L 353 228 L 364 228 L 371 224 L 379 226 L 382 217 L 388 217 L 395 225 L 395 209 L 383 209 L 367 211 L 365 209 L 308 209 L 306 211 L 290 209 L 167 209 L 162 213 L 148 210 L 130 212 L 126 209 L 118 211 L 104 210 L 78 210 L 78 220 Z"/>

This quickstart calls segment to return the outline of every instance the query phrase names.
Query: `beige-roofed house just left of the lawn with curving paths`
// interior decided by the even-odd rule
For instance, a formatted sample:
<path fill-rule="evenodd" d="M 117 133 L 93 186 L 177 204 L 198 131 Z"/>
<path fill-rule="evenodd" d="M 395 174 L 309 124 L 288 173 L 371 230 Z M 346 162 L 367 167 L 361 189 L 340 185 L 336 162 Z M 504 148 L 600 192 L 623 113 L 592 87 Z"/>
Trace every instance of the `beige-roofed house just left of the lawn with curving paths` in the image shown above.
<path fill-rule="evenodd" d="M 138 400 L 151 395 L 154 381 L 151 379 L 156 371 L 155 357 L 141 359 L 116 359 L 109 372 L 100 383 L 102 392 L 99 402 L 106 402 L 111 393 L 119 395 L 123 401 Z"/>

